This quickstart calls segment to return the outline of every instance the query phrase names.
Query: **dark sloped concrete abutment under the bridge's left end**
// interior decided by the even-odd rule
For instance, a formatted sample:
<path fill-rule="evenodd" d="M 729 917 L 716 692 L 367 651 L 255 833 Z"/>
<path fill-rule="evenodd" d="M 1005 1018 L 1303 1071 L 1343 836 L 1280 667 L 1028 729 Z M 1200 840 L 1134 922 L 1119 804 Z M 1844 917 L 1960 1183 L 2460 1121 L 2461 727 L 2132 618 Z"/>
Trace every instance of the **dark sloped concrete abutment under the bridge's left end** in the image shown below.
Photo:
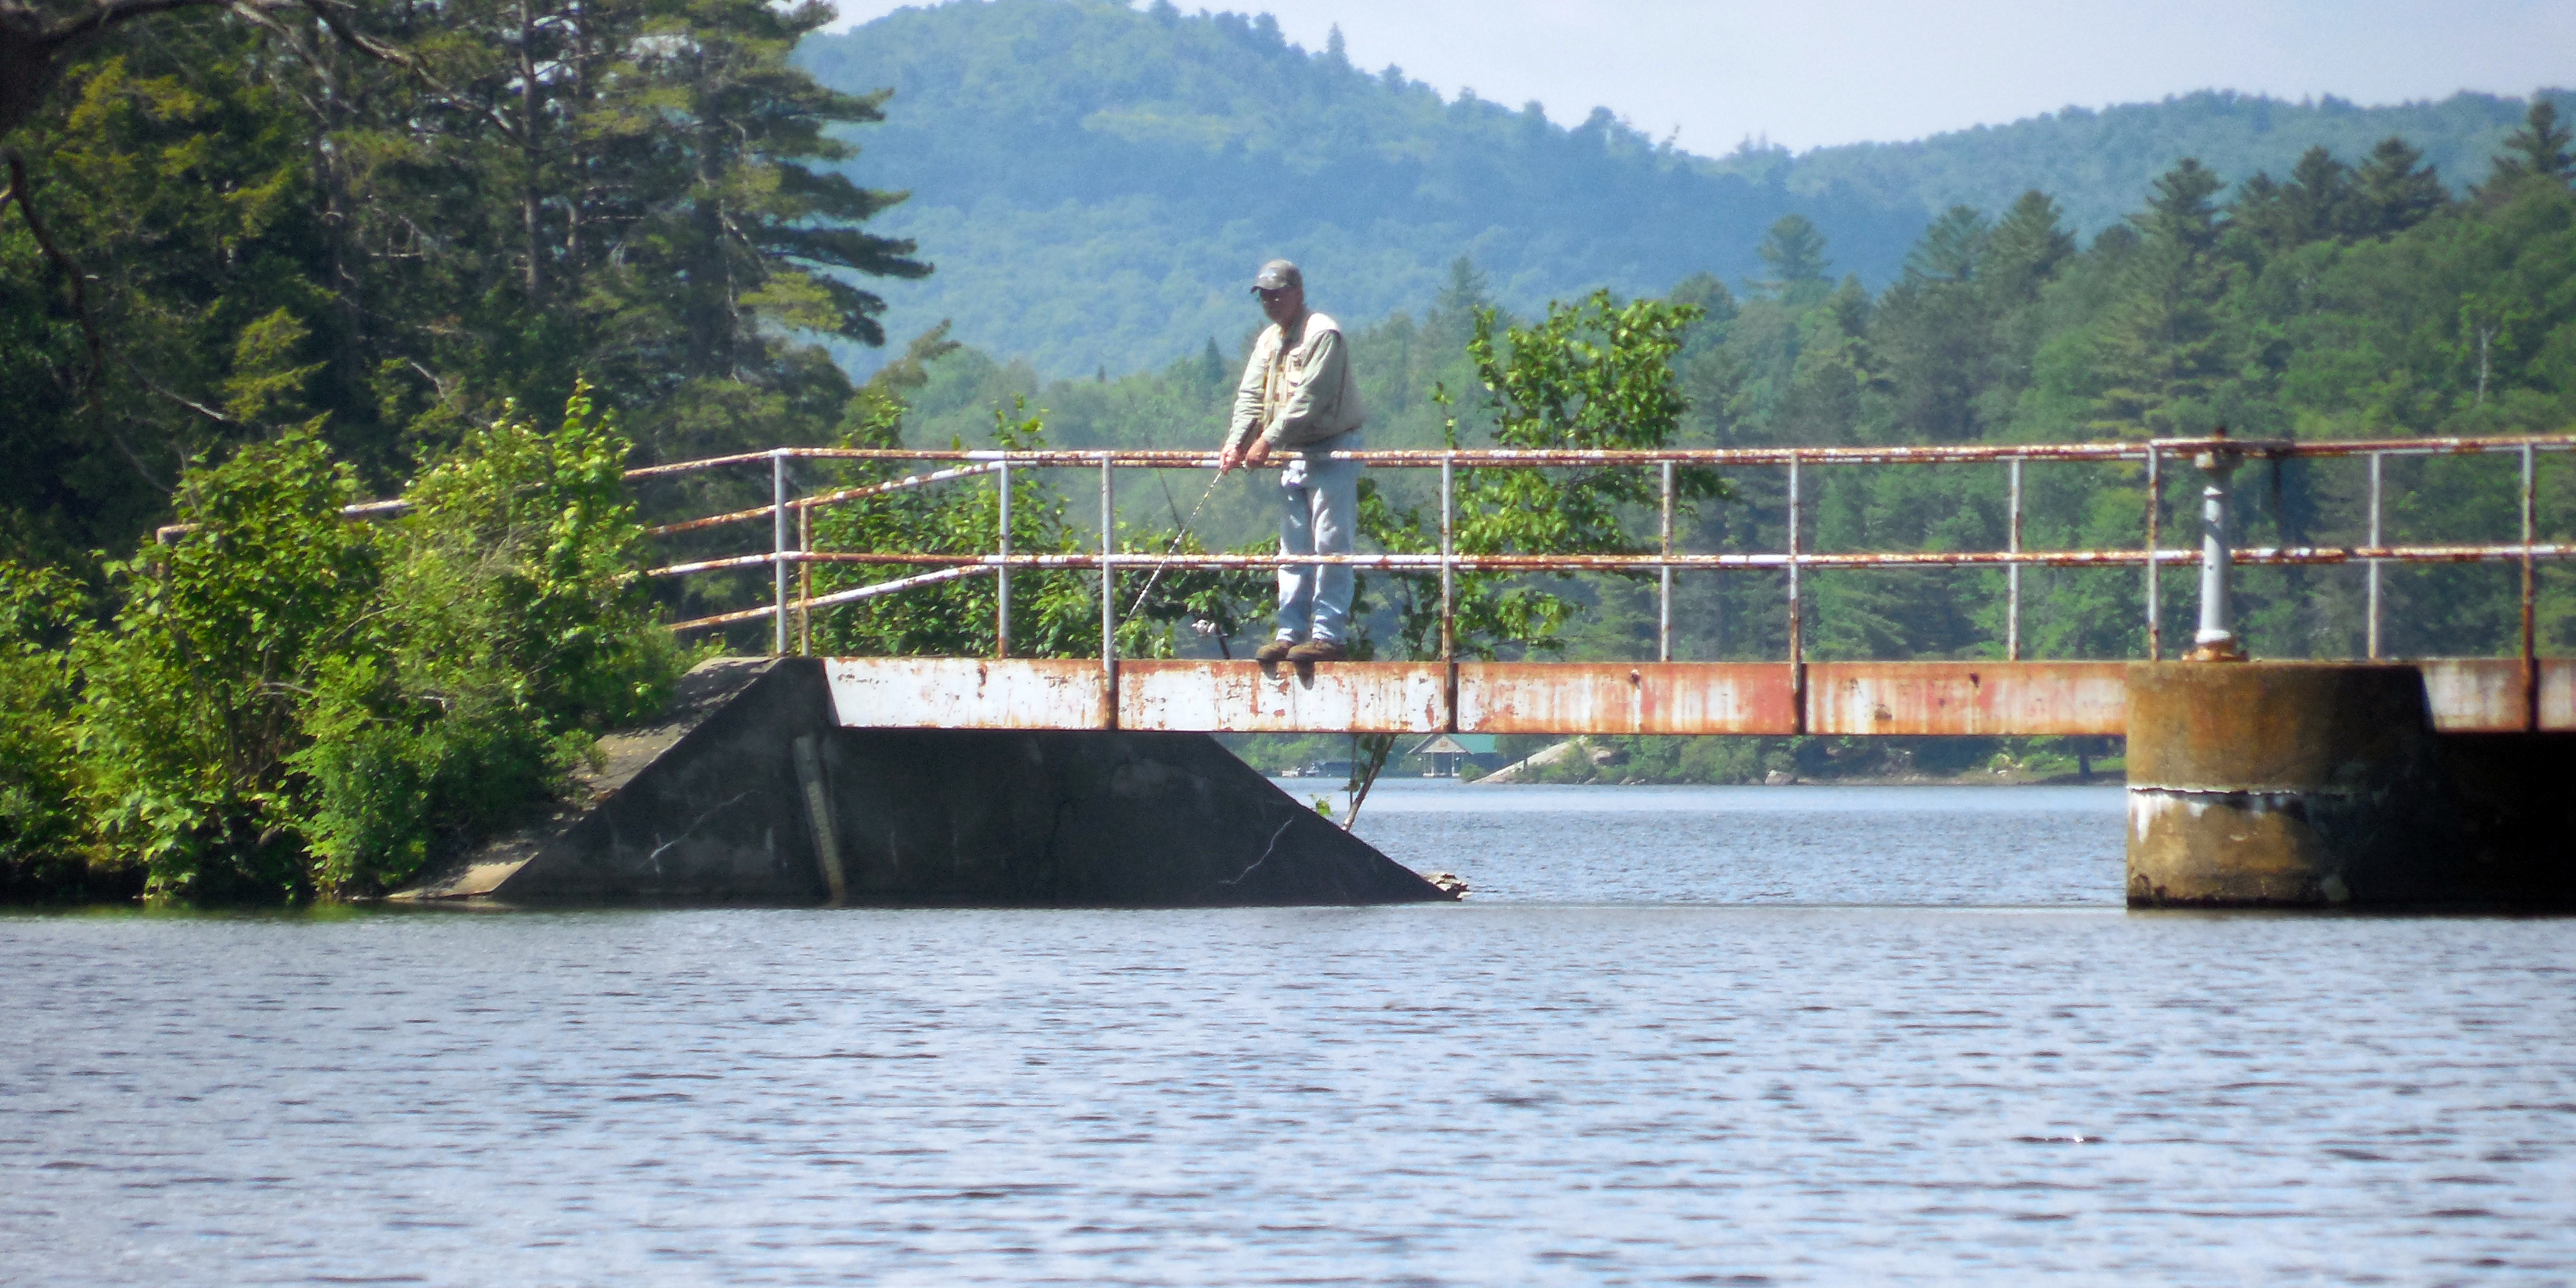
<path fill-rule="evenodd" d="M 469 902 L 1448 899 L 1206 734 L 840 729 L 819 659 L 708 662 L 590 801 L 404 891 Z"/>

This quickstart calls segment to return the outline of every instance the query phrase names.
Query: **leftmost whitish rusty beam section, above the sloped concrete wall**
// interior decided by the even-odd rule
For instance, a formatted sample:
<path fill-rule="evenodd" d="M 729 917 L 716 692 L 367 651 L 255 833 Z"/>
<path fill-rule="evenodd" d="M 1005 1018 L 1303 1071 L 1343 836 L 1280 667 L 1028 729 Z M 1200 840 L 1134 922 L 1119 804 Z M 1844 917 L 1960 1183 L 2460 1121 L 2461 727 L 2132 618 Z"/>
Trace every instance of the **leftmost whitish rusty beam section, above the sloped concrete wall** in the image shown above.
<path fill-rule="evenodd" d="M 1097 659 L 827 657 L 850 729 L 1108 729 Z"/>

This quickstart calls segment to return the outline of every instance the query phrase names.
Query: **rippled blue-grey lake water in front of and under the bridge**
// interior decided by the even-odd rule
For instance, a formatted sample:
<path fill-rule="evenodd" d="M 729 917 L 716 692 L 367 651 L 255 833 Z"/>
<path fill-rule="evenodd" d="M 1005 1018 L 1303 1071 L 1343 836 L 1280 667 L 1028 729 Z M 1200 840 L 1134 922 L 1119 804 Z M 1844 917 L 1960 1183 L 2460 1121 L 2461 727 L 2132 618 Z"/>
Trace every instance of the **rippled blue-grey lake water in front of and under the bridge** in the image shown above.
<path fill-rule="evenodd" d="M 2576 920 L 2128 914 L 2120 817 L 1394 783 L 1466 904 L 0 917 L 0 1283 L 2576 1280 Z"/>

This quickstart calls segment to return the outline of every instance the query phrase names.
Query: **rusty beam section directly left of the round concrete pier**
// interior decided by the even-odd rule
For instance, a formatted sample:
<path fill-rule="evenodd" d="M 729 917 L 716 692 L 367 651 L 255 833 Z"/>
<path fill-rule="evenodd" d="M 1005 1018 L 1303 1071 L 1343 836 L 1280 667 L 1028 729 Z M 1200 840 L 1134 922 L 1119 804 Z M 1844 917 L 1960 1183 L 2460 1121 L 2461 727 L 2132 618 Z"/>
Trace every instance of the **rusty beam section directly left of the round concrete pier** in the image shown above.
<path fill-rule="evenodd" d="M 1808 662 L 1811 734 L 2120 734 L 2128 662 Z"/>

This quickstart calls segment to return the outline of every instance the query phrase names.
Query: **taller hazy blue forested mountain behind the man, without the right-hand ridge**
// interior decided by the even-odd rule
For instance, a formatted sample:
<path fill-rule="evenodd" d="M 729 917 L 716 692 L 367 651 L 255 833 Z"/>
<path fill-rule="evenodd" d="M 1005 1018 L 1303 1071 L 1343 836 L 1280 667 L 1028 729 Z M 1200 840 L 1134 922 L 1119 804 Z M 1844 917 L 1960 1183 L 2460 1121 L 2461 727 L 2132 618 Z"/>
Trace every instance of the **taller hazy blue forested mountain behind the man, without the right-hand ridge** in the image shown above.
<path fill-rule="evenodd" d="M 1159 366 L 1211 335 L 1231 350 L 1270 255 L 1303 263 L 1321 307 L 1383 317 L 1458 255 L 1530 307 L 1749 273 L 1759 229 L 1793 206 L 1855 250 L 1922 224 L 1713 175 L 1607 111 L 1569 131 L 1443 100 L 1396 67 L 1309 54 L 1267 15 L 1170 0 L 899 10 L 809 39 L 799 62 L 832 88 L 894 90 L 866 173 L 912 188 L 886 227 L 940 265 L 891 296 L 899 312 L 956 317 L 963 340 L 1048 374 Z"/>

